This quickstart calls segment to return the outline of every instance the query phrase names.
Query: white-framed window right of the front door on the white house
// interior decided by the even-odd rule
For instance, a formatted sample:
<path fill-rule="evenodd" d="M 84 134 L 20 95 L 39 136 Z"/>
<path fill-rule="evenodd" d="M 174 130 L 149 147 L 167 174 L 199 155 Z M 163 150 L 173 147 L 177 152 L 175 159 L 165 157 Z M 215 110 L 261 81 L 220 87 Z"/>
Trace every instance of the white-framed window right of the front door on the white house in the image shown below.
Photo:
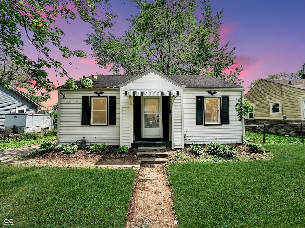
<path fill-rule="evenodd" d="M 204 124 L 221 124 L 220 97 L 204 98 Z"/>

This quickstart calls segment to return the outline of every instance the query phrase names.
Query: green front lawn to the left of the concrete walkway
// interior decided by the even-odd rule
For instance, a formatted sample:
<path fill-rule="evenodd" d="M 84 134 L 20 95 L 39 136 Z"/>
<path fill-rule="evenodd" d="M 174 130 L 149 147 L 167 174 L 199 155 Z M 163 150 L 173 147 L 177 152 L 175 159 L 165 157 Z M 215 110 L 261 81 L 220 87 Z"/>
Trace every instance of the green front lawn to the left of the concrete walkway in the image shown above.
<path fill-rule="evenodd" d="M 132 169 L 0 166 L 0 219 L 14 227 L 124 227 Z"/>

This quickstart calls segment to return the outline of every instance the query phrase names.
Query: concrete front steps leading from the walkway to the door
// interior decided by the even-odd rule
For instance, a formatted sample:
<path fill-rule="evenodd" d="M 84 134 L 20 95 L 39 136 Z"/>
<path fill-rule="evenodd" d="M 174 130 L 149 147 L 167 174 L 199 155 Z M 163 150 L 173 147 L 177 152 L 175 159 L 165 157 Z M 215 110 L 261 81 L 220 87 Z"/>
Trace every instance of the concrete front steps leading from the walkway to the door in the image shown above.
<path fill-rule="evenodd" d="M 137 158 L 142 163 L 157 164 L 167 161 L 166 147 L 138 147 Z"/>

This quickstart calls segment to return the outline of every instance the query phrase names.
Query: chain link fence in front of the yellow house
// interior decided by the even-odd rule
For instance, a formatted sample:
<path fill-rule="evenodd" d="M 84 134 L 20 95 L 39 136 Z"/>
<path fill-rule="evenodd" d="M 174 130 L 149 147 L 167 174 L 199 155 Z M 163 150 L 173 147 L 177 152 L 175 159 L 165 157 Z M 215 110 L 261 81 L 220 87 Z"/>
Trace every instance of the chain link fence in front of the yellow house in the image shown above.
<path fill-rule="evenodd" d="M 305 123 L 245 124 L 247 141 L 264 144 L 303 143 Z"/>

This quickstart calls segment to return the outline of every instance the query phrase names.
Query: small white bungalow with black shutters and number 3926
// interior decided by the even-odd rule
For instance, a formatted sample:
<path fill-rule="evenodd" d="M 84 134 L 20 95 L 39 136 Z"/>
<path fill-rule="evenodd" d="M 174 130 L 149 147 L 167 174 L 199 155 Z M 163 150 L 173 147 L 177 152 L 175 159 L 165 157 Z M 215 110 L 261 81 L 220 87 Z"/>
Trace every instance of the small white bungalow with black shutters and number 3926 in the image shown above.
<path fill-rule="evenodd" d="M 243 142 L 243 123 L 235 111 L 242 86 L 204 75 L 166 76 L 153 69 L 88 78 L 92 88 L 79 81 L 76 92 L 60 88 L 65 97 L 58 99 L 59 144 L 83 137 L 86 144 L 127 147 Z"/>

